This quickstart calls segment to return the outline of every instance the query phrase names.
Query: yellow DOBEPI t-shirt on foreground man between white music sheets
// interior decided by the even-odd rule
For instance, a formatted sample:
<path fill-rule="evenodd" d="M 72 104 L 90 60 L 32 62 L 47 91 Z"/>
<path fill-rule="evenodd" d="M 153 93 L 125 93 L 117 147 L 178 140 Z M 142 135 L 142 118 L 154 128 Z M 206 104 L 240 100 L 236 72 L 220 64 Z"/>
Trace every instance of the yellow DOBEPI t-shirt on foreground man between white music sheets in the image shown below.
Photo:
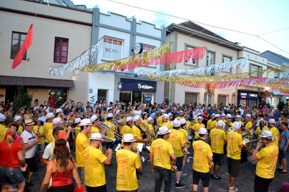
<path fill-rule="evenodd" d="M 120 149 L 116 151 L 117 173 L 116 190 L 134 191 L 138 189 L 136 168 L 140 168 L 138 155 L 130 150 Z"/>

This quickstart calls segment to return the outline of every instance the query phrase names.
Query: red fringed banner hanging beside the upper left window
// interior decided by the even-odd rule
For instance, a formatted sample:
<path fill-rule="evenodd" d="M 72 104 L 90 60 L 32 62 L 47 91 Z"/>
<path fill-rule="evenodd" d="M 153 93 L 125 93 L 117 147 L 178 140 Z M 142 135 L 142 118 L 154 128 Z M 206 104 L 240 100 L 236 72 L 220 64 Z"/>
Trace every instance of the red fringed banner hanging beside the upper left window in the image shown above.
<path fill-rule="evenodd" d="M 27 52 L 30 45 L 32 44 L 32 31 L 33 31 L 33 24 L 31 24 L 31 26 L 28 30 L 28 33 L 24 39 L 24 42 L 23 42 L 19 52 L 17 53 L 16 57 L 13 60 L 12 69 L 15 69 L 15 67 L 17 67 L 21 63 L 21 61 L 24 57 L 24 53 Z"/>

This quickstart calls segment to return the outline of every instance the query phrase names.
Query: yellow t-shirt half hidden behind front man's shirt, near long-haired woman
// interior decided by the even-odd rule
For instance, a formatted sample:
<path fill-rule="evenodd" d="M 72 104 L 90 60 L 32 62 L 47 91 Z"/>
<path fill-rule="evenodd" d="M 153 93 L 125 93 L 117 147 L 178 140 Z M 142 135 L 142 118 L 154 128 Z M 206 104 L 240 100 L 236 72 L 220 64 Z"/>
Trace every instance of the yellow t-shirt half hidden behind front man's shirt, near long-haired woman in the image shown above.
<path fill-rule="evenodd" d="M 75 139 L 76 166 L 84 167 L 84 155 L 83 155 L 83 152 L 84 152 L 84 148 L 86 148 L 88 145 L 89 145 L 88 138 L 83 133 L 78 133 L 78 135 L 76 136 L 76 139 Z M 99 185 L 99 186 L 101 186 L 101 185 Z"/>

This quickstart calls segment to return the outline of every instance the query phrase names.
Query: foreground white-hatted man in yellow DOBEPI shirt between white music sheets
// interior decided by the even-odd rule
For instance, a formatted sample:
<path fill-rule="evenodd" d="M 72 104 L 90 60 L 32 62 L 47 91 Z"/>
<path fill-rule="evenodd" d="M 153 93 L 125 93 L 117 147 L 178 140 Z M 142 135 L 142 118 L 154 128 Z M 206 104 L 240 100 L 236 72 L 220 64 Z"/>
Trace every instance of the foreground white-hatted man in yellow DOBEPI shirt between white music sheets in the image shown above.
<path fill-rule="evenodd" d="M 140 152 L 131 151 L 134 136 L 127 133 L 123 136 L 124 148 L 116 151 L 116 190 L 117 191 L 137 191 L 138 180 L 136 178 L 136 169 L 142 171 L 142 163 L 140 162 Z"/>

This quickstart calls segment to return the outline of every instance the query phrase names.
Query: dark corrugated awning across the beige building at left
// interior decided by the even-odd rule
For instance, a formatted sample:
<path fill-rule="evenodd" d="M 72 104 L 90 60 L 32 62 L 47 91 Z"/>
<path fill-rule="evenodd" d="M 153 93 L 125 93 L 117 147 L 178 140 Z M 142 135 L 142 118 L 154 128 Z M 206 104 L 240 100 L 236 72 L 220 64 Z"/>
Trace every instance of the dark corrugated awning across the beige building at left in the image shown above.
<path fill-rule="evenodd" d="M 73 80 L 0 76 L 0 86 L 7 85 L 38 88 L 72 88 L 75 86 Z"/>

